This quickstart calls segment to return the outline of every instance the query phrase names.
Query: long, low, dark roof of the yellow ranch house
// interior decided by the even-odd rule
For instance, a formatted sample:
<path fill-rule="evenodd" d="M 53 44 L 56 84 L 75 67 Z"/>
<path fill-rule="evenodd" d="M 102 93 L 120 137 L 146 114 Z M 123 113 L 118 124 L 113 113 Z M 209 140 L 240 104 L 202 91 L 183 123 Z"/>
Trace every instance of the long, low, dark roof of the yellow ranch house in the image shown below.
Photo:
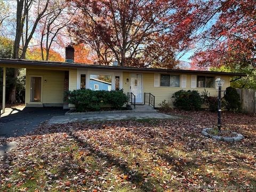
<path fill-rule="evenodd" d="M 43 67 L 66 67 L 66 68 L 84 68 L 84 69 L 106 69 L 106 70 L 123 70 L 123 71 L 141 71 L 153 73 L 183 73 L 183 74 L 212 74 L 212 75 L 229 75 L 229 76 L 246 76 L 244 73 L 227 73 L 219 71 L 203 70 L 184 70 L 184 69 L 163 69 L 163 68 L 137 68 L 137 67 L 119 67 L 103 65 L 86 65 L 83 63 L 53 62 L 53 61 L 35 61 L 25 59 L 1 59 L 0 65 L 22 65 L 22 66 L 43 66 Z M 24 68 L 24 67 L 23 67 Z"/>

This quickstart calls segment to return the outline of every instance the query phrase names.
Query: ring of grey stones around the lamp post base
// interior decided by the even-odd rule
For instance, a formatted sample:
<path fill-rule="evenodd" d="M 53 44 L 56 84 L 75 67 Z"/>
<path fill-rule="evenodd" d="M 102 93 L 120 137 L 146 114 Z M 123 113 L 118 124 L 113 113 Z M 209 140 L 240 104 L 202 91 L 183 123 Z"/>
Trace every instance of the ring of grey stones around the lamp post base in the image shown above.
<path fill-rule="evenodd" d="M 213 130 L 213 128 L 204 128 L 202 131 L 202 134 L 208 138 L 216 139 L 219 141 L 227 141 L 227 142 L 240 141 L 244 138 L 244 136 L 242 134 L 239 134 L 237 132 L 232 132 L 232 134 L 236 135 L 235 137 L 222 137 L 222 136 L 218 136 L 218 135 L 212 135 L 209 133 L 210 130 Z"/>

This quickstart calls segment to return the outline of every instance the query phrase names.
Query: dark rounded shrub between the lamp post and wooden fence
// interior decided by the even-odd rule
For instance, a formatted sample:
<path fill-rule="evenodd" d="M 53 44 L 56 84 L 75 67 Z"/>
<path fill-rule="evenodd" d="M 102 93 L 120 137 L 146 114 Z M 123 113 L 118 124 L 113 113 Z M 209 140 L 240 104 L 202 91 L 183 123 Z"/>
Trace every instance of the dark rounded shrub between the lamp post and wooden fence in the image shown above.
<path fill-rule="evenodd" d="M 233 87 L 227 87 L 224 95 L 226 100 L 226 109 L 228 111 L 239 112 L 241 111 L 240 96 Z"/>

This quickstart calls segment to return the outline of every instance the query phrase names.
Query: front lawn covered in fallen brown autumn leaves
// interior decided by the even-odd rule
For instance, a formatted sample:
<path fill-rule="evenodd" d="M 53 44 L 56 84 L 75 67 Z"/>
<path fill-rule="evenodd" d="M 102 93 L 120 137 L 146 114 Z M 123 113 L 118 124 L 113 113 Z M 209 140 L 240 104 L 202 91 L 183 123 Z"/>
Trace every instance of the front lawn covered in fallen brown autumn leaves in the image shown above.
<path fill-rule="evenodd" d="M 0 165 L 1 191 L 255 191 L 256 116 L 223 114 L 245 136 L 204 138 L 216 114 L 173 111 L 182 119 L 46 126 L 10 138 L 18 147 Z M 227 129 L 227 128 L 226 128 Z"/>

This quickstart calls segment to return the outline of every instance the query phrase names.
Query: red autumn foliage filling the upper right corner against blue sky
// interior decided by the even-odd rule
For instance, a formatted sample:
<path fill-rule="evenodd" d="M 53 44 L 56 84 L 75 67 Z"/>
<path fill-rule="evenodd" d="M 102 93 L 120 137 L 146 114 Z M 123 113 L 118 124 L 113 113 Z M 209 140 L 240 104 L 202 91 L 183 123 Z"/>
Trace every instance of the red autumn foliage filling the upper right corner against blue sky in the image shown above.
<path fill-rule="evenodd" d="M 193 62 L 203 67 L 256 67 L 256 2 L 209 0 L 205 10 L 202 46 Z"/>

